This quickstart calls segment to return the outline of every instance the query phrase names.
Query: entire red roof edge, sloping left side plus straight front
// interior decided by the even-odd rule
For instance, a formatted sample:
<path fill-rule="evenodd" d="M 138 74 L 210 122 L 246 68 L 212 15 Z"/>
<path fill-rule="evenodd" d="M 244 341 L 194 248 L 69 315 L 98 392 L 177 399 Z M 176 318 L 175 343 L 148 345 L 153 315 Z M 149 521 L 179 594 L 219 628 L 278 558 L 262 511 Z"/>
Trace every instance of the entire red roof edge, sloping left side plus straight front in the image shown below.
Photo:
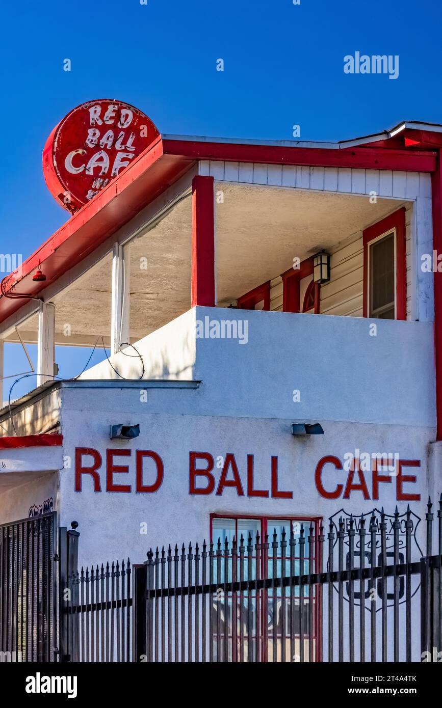
<path fill-rule="evenodd" d="M 436 152 L 431 150 L 390 149 L 386 146 L 345 149 L 317 147 L 287 147 L 253 143 L 208 142 L 206 140 L 169 139 L 161 135 L 142 154 L 137 156 L 119 176 L 101 190 L 88 204 L 81 207 L 65 224 L 2 281 L 6 295 L 18 283 L 20 289 L 33 297 L 69 270 L 60 265 L 62 249 L 75 239 L 77 253 L 69 267 L 81 261 L 98 244 L 128 222 L 137 209 L 145 207 L 162 190 L 176 181 L 191 164 L 198 160 L 228 160 L 280 165 L 341 166 L 365 169 L 397 169 L 432 172 L 436 169 Z M 162 166 L 162 167 L 161 167 Z M 159 169 L 157 169 L 157 167 Z M 146 189 L 145 201 L 140 200 L 140 189 L 135 183 L 152 187 Z M 155 192 L 155 189 L 157 191 Z M 132 210 L 131 210 L 132 209 Z M 56 251 L 58 253 L 56 254 Z M 47 261 L 50 259 L 50 261 Z M 38 263 L 51 263 L 50 278 L 33 282 L 32 275 Z M 19 309 L 26 299 L 0 297 L 0 322 Z"/>

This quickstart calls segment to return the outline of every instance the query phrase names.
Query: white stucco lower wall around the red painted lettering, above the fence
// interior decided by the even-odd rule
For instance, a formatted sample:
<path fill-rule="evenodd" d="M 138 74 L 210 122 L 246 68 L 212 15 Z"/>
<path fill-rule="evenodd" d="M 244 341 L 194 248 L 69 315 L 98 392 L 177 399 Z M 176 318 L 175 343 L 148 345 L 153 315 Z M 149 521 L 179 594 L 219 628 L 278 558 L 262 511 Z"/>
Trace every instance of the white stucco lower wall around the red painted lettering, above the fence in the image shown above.
<path fill-rule="evenodd" d="M 81 532 L 81 562 L 100 561 L 104 556 L 116 559 L 130 555 L 141 562 L 148 547 L 169 542 L 201 542 L 208 539 L 210 513 L 265 515 L 268 517 L 318 516 L 327 519 L 341 508 L 359 515 L 373 507 L 385 506 L 393 513 L 396 503 L 403 513 L 406 501 L 397 501 L 397 481 L 379 486 L 379 499 L 373 501 L 372 472 L 364 478 L 370 498 L 364 500 L 360 490 L 353 490 L 348 499 L 344 491 L 348 472 L 335 470 L 332 464 L 324 467 L 322 484 L 327 491 L 344 485 L 339 497 L 330 500 L 321 496 L 314 474 L 319 459 L 335 455 L 344 462 L 344 454 L 358 448 L 365 452 L 397 452 L 400 459 L 419 460 L 420 467 L 404 467 L 402 474 L 416 476 L 415 482 L 405 481 L 402 491 L 421 495 L 421 502 L 412 502 L 412 509 L 422 516 L 428 487 L 428 443 L 432 428 L 405 428 L 404 426 L 367 425 L 363 423 L 327 423 L 325 434 L 310 438 L 296 438 L 290 434 L 290 419 L 246 417 L 196 416 L 179 413 L 184 398 L 187 410 L 200 396 L 198 390 L 152 391 L 149 400 L 137 406 L 138 389 L 118 392 L 98 389 L 86 395 L 68 389 L 63 394 L 64 455 L 69 456 L 70 467 L 60 473 L 60 508 L 62 525 L 79 522 Z M 159 413 L 168 399 L 175 413 Z M 118 400 L 118 406 L 115 401 Z M 177 410 L 178 409 L 178 410 Z M 88 420 L 87 428 L 84 420 Z M 132 441 L 109 440 L 111 423 L 140 423 L 140 437 Z M 94 491 L 90 474 L 81 475 L 81 491 L 75 490 L 75 449 L 94 448 L 101 455 L 98 468 L 101 491 Z M 106 450 L 131 450 L 128 457 L 115 456 L 114 464 L 128 467 L 115 473 L 114 484 L 131 487 L 130 491 L 106 491 Z M 137 493 L 135 489 L 135 450 L 154 450 L 164 463 L 162 485 L 154 493 Z M 189 493 L 189 452 L 208 452 L 214 458 L 215 489 L 208 495 Z M 244 496 L 236 489 L 225 488 L 217 494 L 221 467 L 227 453 L 237 462 Z M 254 487 L 269 491 L 268 498 L 247 496 L 247 455 L 254 455 Z M 278 457 L 278 489 L 291 491 L 293 498 L 271 497 L 271 457 Z M 84 454 L 84 466 L 92 458 Z M 217 467 L 218 464 L 218 467 Z M 205 468 L 201 459 L 198 467 Z M 155 479 L 154 464 L 145 462 L 144 484 Z M 233 479 L 232 469 L 227 474 Z M 354 483 L 359 484 L 356 473 Z M 205 486 L 207 479 L 198 477 Z M 140 525 L 146 523 L 147 535 L 140 534 Z M 102 557 L 103 556 L 103 557 Z"/>

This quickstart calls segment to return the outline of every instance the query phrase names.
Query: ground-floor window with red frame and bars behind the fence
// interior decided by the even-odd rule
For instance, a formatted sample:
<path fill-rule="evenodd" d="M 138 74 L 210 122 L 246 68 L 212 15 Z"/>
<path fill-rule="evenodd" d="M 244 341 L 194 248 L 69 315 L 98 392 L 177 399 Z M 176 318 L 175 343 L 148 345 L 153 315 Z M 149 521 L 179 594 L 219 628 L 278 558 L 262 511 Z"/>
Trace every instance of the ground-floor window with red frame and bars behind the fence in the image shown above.
<path fill-rule="evenodd" d="M 319 533 L 319 521 L 315 518 L 270 518 L 263 516 L 256 517 L 238 517 L 228 515 L 210 516 L 210 539 L 214 544 L 215 555 L 220 558 L 219 566 L 215 561 L 215 577 L 214 582 L 222 584 L 225 581 L 226 574 L 226 556 L 225 547 L 229 549 L 229 558 L 227 559 L 227 581 L 247 580 L 249 577 L 254 578 L 280 578 L 290 576 L 290 565 L 293 564 L 295 575 L 304 575 L 314 573 L 321 568 L 321 559 L 317 555 L 316 538 Z M 302 558 L 300 556 L 301 526 L 304 529 L 305 544 L 303 545 Z M 310 535 L 310 527 L 312 528 L 311 544 L 308 542 Z M 290 559 L 290 530 L 293 530 L 295 539 L 295 554 Z M 286 547 L 284 551 L 281 549 L 281 541 L 283 540 L 283 531 L 285 532 Z M 258 534 L 258 537 L 257 537 Z M 268 536 L 266 538 L 266 536 Z M 235 562 L 232 561 L 232 544 L 235 539 L 236 553 Z M 276 542 L 277 547 L 273 547 Z M 268 544 L 268 548 L 264 545 Z M 310 556 L 311 554 L 311 556 Z M 242 561 L 242 558 L 244 559 Z M 310 564 L 311 559 L 311 564 Z M 311 566 L 311 567 L 310 567 Z M 217 567 L 219 569 L 219 578 L 217 575 Z M 237 617 L 237 622 L 245 622 L 242 628 L 242 634 L 247 639 L 249 636 L 249 614 L 247 612 L 249 603 L 251 604 L 251 651 L 253 653 L 253 661 L 257 658 L 259 661 L 273 660 L 273 641 L 276 642 L 276 657 L 277 661 L 282 660 L 283 656 L 283 641 L 285 649 L 285 661 L 299 661 L 300 656 L 300 627 L 302 622 L 302 644 L 304 646 L 304 661 L 319 661 L 320 656 L 320 636 L 318 633 L 319 627 L 319 590 L 317 586 L 309 588 L 304 586 L 302 597 L 300 596 L 300 588 L 294 587 L 291 591 L 292 599 L 290 602 L 290 588 L 268 588 L 261 590 L 258 593 L 229 593 L 229 624 L 227 627 L 227 646 L 229 655 L 236 653 L 236 656 L 229 656 L 227 661 L 246 661 L 246 653 L 249 651 L 248 642 L 246 646 L 233 646 L 232 632 L 232 617 Z M 310 632 L 310 603 L 312 603 L 312 627 Z M 291 605 L 291 610 L 290 610 Z M 217 600 L 214 598 L 213 610 L 215 612 L 214 622 L 217 622 L 218 612 L 223 612 L 224 605 L 218 607 Z M 276 613 L 276 622 L 275 622 Z M 224 615 L 223 615 L 224 617 Z M 283 618 L 284 621 L 283 621 Z M 283 630 L 283 625 L 285 630 Z M 215 625 L 214 625 L 215 626 Z M 290 628 L 294 629 L 293 645 L 290 642 Z M 224 639 L 225 622 L 222 622 L 222 638 Z M 215 635 L 214 635 L 215 636 Z M 237 639 L 239 639 L 240 631 L 237 627 Z M 222 646 L 224 641 L 219 642 L 220 653 L 223 651 Z M 295 656 L 290 657 L 291 648 L 293 646 Z M 214 646 L 214 654 L 217 647 Z M 242 652 L 242 656 L 240 653 Z M 245 655 L 244 655 L 245 653 Z M 257 656 L 258 655 L 258 656 Z M 222 661 L 226 661 L 224 656 L 221 656 Z"/>

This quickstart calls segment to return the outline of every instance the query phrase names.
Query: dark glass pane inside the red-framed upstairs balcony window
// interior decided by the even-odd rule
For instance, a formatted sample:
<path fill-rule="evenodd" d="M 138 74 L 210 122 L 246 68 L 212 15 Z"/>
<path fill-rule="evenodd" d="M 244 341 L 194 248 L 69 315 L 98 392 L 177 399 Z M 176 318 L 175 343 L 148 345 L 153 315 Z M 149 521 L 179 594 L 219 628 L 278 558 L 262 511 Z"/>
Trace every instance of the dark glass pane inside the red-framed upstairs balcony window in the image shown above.
<path fill-rule="evenodd" d="M 370 317 L 395 319 L 395 234 L 370 246 Z"/>

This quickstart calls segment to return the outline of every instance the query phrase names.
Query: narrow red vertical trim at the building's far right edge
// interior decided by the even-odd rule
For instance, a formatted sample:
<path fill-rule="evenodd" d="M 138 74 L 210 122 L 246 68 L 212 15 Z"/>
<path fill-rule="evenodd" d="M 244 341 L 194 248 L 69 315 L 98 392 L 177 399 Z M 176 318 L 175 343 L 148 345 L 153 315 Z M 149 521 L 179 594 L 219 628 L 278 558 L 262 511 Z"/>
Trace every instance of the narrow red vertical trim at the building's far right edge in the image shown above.
<path fill-rule="evenodd" d="M 442 253 L 442 160 L 441 150 L 436 171 L 431 175 L 431 202 L 433 210 L 433 250 Z M 436 440 L 442 440 L 442 278 L 436 271 L 434 282 L 434 349 L 436 359 Z"/>

